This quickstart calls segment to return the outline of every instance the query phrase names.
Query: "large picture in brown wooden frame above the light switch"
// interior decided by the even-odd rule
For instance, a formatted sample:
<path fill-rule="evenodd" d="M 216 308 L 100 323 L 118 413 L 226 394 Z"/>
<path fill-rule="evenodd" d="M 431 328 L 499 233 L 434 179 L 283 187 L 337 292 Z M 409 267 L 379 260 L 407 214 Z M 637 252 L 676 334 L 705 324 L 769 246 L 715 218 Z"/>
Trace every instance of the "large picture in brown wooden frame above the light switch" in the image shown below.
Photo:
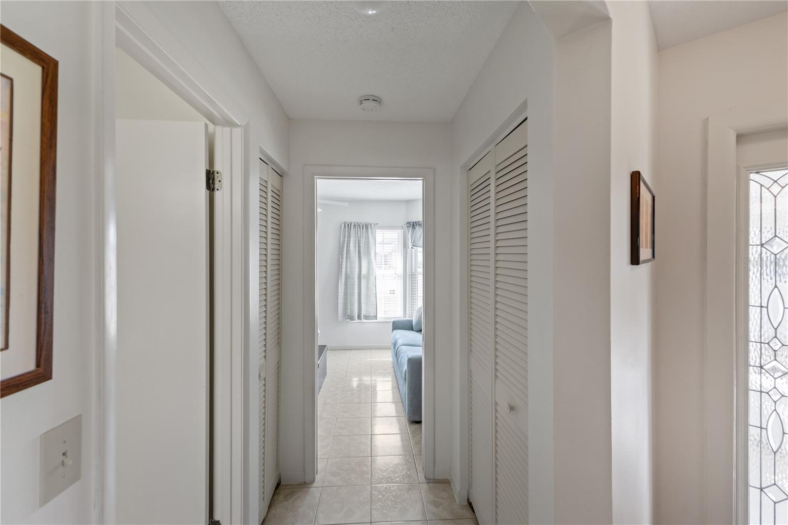
<path fill-rule="evenodd" d="M 0 25 L 0 397 L 52 378 L 57 140 L 58 61 Z"/>

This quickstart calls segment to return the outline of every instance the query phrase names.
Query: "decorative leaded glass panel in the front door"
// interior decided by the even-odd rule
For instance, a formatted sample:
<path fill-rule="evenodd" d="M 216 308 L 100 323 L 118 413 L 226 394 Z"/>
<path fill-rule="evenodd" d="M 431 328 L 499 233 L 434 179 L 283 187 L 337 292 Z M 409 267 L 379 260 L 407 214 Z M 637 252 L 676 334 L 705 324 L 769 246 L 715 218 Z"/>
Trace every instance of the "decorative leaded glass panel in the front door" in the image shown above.
<path fill-rule="evenodd" d="M 749 523 L 788 523 L 788 169 L 749 174 Z"/>

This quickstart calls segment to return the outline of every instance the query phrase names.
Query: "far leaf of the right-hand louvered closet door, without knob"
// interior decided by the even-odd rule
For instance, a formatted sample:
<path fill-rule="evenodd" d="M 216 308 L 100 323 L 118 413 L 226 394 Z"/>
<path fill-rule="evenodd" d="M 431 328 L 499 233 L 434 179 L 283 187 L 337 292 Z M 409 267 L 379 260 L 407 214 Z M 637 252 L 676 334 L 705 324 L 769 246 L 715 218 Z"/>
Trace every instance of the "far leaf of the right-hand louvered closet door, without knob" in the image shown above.
<path fill-rule="evenodd" d="M 470 501 L 492 523 L 492 153 L 468 172 Z"/>

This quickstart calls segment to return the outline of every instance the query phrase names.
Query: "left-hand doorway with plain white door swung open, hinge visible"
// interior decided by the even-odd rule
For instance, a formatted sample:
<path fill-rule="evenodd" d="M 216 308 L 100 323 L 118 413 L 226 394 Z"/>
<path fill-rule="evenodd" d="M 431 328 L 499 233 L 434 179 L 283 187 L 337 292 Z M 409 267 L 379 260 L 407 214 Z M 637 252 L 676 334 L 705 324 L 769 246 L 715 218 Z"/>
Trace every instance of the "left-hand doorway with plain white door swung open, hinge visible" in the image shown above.
<path fill-rule="evenodd" d="M 180 84 L 150 63 L 161 50 L 117 46 L 117 220 L 107 226 L 117 238 L 117 352 L 103 365 L 113 385 L 104 512 L 117 523 L 229 520 L 232 354 L 216 349 L 229 350 L 224 239 L 239 174 L 230 143 L 241 130 L 169 87 Z M 177 497 L 160 490 L 172 482 Z"/>

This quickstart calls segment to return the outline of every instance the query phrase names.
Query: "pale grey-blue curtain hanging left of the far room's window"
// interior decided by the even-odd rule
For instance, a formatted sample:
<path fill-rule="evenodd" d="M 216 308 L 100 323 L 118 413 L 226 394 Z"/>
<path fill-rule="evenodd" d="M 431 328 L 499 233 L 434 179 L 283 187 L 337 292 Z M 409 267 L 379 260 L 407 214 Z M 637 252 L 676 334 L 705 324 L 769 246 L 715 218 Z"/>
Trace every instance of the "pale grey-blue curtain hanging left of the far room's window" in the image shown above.
<path fill-rule="evenodd" d="M 377 319 L 374 222 L 343 222 L 340 233 L 340 321 Z"/>

